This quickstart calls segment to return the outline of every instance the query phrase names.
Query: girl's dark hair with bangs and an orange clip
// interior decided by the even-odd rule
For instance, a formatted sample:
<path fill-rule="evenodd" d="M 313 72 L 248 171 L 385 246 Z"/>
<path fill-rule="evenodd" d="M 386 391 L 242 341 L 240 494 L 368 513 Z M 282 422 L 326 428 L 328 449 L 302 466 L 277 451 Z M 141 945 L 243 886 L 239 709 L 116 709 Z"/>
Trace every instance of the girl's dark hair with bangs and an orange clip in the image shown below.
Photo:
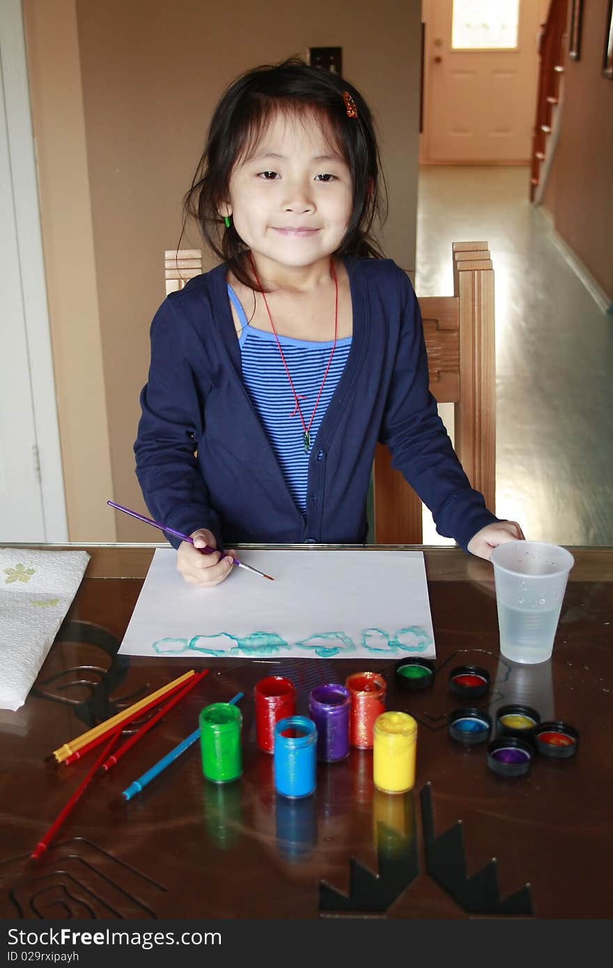
<path fill-rule="evenodd" d="M 353 99 L 357 117 L 348 114 L 346 92 Z M 255 68 L 230 84 L 215 108 L 192 187 L 184 198 L 185 220 L 196 219 L 204 241 L 230 264 L 237 279 L 252 288 L 258 287 L 243 258 L 247 251 L 245 243 L 233 223 L 225 227 L 219 211 L 228 200 L 233 166 L 249 154 L 277 111 L 300 117 L 310 112 L 329 130 L 350 168 L 352 215 L 337 255 L 383 257 L 371 234 L 375 217 L 384 221 L 387 203 L 370 109 L 359 91 L 343 77 L 310 67 L 297 57 Z"/>

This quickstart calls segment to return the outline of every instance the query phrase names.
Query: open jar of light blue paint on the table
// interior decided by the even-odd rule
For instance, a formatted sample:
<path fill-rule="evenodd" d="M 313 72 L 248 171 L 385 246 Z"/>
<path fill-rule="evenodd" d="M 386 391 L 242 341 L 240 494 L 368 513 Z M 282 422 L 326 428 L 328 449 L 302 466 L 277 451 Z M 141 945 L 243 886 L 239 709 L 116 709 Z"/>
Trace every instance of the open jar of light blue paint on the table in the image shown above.
<path fill-rule="evenodd" d="M 286 716 L 275 725 L 274 774 L 277 793 L 308 797 L 317 785 L 317 729 L 306 716 Z"/>

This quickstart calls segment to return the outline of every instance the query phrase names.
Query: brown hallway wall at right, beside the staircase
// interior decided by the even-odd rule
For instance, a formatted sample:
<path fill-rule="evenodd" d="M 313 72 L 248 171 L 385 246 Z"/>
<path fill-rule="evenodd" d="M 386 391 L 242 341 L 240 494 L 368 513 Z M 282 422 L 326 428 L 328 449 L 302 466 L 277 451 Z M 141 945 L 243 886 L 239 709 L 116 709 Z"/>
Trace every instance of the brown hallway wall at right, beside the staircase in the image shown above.
<path fill-rule="evenodd" d="M 566 57 L 562 127 L 544 204 L 613 302 L 613 80 L 600 74 L 607 7 L 608 0 L 583 4 L 581 57 Z"/>

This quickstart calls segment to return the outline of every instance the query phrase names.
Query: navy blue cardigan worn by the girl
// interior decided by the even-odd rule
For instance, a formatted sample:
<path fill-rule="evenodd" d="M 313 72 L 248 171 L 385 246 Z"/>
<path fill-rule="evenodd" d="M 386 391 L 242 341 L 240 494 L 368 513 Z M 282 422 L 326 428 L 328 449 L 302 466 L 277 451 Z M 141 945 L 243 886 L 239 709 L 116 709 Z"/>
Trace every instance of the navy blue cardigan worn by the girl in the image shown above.
<path fill-rule="evenodd" d="M 429 392 L 411 282 L 389 259 L 345 265 L 352 348 L 313 443 L 305 516 L 243 384 L 227 266 L 191 280 L 162 304 L 151 325 L 135 444 L 138 481 L 154 518 L 187 534 L 208 528 L 226 547 L 362 543 L 380 440 L 439 533 L 466 548 L 476 531 L 498 520 L 471 488 Z"/>

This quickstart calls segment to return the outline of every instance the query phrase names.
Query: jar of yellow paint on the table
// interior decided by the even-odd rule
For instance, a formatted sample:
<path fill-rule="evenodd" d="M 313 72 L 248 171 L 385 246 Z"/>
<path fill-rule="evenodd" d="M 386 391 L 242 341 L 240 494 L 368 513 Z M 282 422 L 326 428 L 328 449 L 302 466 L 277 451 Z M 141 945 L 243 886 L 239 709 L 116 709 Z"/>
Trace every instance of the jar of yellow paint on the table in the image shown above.
<path fill-rule="evenodd" d="M 383 793 L 406 793 L 415 782 L 417 724 L 407 712 L 382 712 L 373 728 L 373 778 Z"/>

